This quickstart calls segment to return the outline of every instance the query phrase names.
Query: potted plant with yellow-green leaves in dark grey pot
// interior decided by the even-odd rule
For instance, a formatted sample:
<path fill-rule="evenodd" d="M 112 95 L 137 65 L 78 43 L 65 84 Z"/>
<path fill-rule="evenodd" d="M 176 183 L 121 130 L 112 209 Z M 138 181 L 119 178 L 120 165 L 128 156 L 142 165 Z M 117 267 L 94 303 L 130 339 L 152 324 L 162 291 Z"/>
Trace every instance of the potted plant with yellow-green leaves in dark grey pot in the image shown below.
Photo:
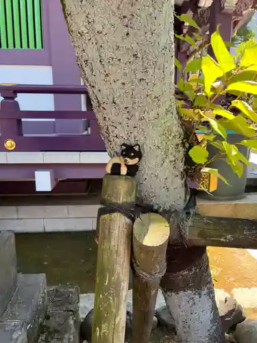
<path fill-rule="evenodd" d="M 185 36 L 177 38 L 192 43 Z M 219 178 L 216 191 L 202 194 L 206 198 L 243 198 L 249 150 L 257 150 L 257 42 L 241 43 L 232 56 L 217 27 L 210 44 L 216 60 L 199 49 L 200 56 L 184 68 L 176 60 L 180 76 L 175 102 L 186 134 L 186 172 L 197 182 L 199 171 L 209 167 Z"/>

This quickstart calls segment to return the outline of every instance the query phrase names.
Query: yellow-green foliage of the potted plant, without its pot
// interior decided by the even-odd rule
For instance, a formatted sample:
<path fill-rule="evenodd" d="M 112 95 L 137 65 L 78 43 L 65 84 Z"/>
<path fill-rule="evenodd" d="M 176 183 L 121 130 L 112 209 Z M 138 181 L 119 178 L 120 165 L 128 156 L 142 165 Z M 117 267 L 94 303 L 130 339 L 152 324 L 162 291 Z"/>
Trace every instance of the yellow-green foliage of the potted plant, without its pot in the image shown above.
<path fill-rule="evenodd" d="M 192 25 L 192 19 L 187 19 L 186 16 L 179 18 Z M 197 29 L 196 24 L 192 26 Z M 199 34 L 194 35 L 197 36 Z M 188 37 L 177 38 L 190 43 Z M 198 46 L 197 39 L 194 42 L 191 45 Z M 176 60 L 180 73 L 176 104 L 182 119 L 191 121 L 192 134 L 202 134 L 201 141 L 191 145 L 188 151 L 193 161 L 206 166 L 216 158 L 223 158 L 240 178 L 243 164 L 249 162 L 238 151 L 238 145 L 257 150 L 257 41 L 241 43 L 233 56 L 217 27 L 210 44 L 215 58 L 207 55 L 191 59 L 184 67 Z M 224 97 L 232 98 L 227 103 L 228 106 L 224 105 L 224 100 L 223 103 L 220 102 Z M 236 144 L 230 144 L 227 141 L 229 131 L 245 138 Z M 208 145 L 214 145 L 219 150 L 215 158 L 208 159 Z M 222 178 L 219 174 L 217 176 Z"/>

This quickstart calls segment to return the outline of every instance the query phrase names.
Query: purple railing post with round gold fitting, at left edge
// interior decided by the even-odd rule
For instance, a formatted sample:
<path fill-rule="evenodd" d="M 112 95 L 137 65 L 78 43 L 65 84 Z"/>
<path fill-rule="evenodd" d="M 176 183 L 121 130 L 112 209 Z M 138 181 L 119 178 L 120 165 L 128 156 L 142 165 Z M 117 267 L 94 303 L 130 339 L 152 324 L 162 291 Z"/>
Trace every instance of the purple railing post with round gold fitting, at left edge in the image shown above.
<path fill-rule="evenodd" d="M 19 102 L 15 100 L 17 93 L 12 90 L 5 90 L 1 91 L 1 97 L 3 97 L 3 100 L 0 103 L 0 113 L 4 112 L 6 114 L 20 111 Z M 1 144 L 3 144 L 7 150 L 14 150 L 14 147 L 16 147 L 16 137 L 22 134 L 21 120 L 1 119 L 0 128 Z M 9 142 L 5 143 L 8 140 Z M 0 146 L 0 150 L 1 149 L 2 147 Z"/>

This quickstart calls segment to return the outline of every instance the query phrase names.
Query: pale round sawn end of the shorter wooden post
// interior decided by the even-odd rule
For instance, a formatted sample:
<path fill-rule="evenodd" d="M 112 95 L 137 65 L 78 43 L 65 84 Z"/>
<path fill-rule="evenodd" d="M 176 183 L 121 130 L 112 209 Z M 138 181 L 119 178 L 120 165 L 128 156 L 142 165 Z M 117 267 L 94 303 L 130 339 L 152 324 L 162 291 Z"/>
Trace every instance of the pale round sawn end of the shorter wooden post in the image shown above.
<path fill-rule="evenodd" d="M 169 223 L 158 213 L 144 213 L 134 222 L 134 237 L 144 246 L 160 246 L 169 234 Z"/>

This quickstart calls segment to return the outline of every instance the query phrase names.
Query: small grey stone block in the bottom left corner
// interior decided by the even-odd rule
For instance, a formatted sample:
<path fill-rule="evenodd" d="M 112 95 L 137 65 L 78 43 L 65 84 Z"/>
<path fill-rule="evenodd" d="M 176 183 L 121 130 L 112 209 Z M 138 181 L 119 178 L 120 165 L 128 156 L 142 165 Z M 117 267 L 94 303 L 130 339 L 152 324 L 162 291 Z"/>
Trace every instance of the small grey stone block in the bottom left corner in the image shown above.
<path fill-rule="evenodd" d="M 1 343 L 27 343 L 27 330 L 24 322 L 0 323 Z"/>

